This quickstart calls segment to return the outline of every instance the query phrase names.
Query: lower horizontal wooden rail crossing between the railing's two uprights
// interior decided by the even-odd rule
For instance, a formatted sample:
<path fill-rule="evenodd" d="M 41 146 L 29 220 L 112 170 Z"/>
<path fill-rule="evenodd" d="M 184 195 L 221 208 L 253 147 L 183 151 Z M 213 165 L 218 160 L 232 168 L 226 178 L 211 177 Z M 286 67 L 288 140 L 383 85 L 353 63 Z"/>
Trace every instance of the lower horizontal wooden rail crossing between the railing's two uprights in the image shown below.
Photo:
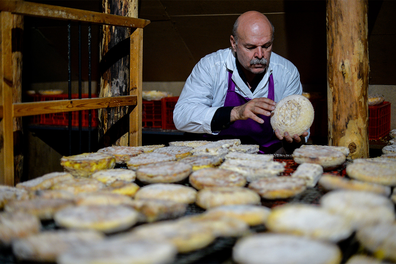
<path fill-rule="evenodd" d="M 51 114 L 76 110 L 89 110 L 117 106 L 136 105 L 136 96 L 114 96 L 99 98 L 84 98 L 73 100 L 55 100 L 32 103 L 13 104 L 14 116 L 33 116 L 37 114 Z M 12 126 L 11 126 L 12 127 Z"/>

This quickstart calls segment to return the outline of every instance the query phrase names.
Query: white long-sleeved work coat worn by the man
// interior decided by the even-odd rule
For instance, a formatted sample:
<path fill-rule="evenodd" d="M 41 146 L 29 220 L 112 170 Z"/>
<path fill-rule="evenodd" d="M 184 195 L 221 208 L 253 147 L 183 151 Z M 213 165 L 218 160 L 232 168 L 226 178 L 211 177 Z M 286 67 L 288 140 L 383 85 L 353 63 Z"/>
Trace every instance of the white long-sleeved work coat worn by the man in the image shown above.
<path fill-rule="evenodd" d="M 235 91 L 250 99 L 268 96 L 268 80 L 274 78 L 275 102 L 292 94 L 302 94 L 297 68 L 287 59 L 272 52 L 270 64 L 261 82 L 252 93 L 236 69 L 236 54 L 231 48 L 203 57 L 193 68 L 173 111 L 173 121 L 180 131 L 212 133 L 210 123 L 217 108 L 224 106 L 228 89 L 228 71 L 232 70 Z"/>

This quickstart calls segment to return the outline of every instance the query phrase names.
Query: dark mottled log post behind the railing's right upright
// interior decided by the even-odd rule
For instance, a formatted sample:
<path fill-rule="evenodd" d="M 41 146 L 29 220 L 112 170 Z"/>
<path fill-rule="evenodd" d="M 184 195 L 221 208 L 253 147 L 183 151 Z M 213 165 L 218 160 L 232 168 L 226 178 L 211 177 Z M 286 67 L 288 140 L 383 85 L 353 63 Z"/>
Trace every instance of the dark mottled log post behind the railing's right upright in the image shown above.
<path fill-rule="evenodd" d="M 103 0 L 103 12 L 137 17 L 137 0 Z M 102 27 L 100 97 L 129 95 L 130 29 Z M 129 144 L 129 107 L 99 110 L 99 147 Z"/>

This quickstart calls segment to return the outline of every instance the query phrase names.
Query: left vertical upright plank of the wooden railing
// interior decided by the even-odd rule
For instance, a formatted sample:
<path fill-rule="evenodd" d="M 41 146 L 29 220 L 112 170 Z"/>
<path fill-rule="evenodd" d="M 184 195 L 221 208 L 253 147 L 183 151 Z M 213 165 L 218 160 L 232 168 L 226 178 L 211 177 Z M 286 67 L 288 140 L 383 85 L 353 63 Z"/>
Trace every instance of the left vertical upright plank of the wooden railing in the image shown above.
<path fill-rule="evenodd" d="M 1 103 L 3 106 L 3 119 L 0 122 L 2 132 L 2 149 L 0 150 L 0 184 L 14 186 L 14 151 L 13 151 L 13 111 L 12 111 L 12 48 L 11 30 L 12 15 L 9 12 L 0 13 L 1 21 Z"/>

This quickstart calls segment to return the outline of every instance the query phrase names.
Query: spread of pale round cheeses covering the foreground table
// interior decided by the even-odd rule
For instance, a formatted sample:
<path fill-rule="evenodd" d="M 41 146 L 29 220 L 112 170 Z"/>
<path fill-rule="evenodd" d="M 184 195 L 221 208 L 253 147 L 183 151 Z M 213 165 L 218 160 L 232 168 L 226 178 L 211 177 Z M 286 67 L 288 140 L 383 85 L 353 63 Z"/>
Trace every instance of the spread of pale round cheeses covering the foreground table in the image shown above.
<path fill-rule="evenodd" d="M 345 161 L 345 149 L 331 149 Z M 367 251 L 385 252 L 383 257 L 396 261 L 394 204 L 387 197 L 395 177 L 381 170 L 393 163 L 370 160 L 377 164 L 371 178 L 353 173 L 367 169 L 348 165 L 350 177 L 367 182 L 342 178 L 348 182 L 326 186 L 320 205 L 270 209 L 263 199 L 287 201 L 318 181 L 325 186 L 323 171 L 337 166 L 340 155 L 335 155 L 337 164 L 315 164 L 299 161 L 296 152 L 300 165 L 285 176 L 285 163 L 257 152 L 258 146 L 230 139 L 108 147 L 63 157 L 64 172 L 0 186 L 0 241 L 25 262 L 172 263 L 178 254 L 207 247 L 217 237 L 236 237 L 232 257 L 238 263 L 339 263 L 337 243 L 356 232 Z M 322 160 L 321 152 L 315 153 Z M 339 190 L 343 186 L 369 187 Z M 200 213 L 188 215 L 194 204 Z M 42 230 L 48 221 L 59 228 Z M 260 234 L 250 228 L 263 224 L 267 230 Z M 372 243 L 378 230 L 387 232 L 380 236 L 381 246 Z"/>

